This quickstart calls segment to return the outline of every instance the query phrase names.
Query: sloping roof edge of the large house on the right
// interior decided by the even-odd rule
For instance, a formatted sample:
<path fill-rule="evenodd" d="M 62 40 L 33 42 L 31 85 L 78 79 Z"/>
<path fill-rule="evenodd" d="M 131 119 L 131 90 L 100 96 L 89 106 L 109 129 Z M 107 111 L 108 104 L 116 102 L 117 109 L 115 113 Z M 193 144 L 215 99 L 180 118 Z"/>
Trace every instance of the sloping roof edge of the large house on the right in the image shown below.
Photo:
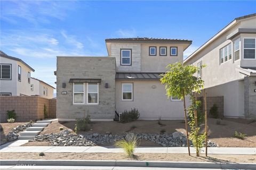
<path fill-rule="evenodd" d="M 222 33 L 226 32 L 230 27 L 232 27 L 238 20 L 246 19 L 256 16 L 256 13 L 250 14 L 250 15 L 244 15 L 240 16 L 238 18 L 235 18 L 233 21 L 231 21 L 229 24 L 226 25 L 223 29 L 221 29 L 218 33 L 216 33 L 213 37 L 211 37 L 209 40 L 207 40 L 201 47 L 199 47 L 197 50 L 195 50 L 194 53 L 192 53 L 190 56 L 188 56 L 185 60 L 184 63 L 188 62 L 190 58 L 195 56 L 197 53 L 201 52 L 207 45 L 209 45 L 213 40 L 217 39 L 219 36 L 222 35 Z"/>

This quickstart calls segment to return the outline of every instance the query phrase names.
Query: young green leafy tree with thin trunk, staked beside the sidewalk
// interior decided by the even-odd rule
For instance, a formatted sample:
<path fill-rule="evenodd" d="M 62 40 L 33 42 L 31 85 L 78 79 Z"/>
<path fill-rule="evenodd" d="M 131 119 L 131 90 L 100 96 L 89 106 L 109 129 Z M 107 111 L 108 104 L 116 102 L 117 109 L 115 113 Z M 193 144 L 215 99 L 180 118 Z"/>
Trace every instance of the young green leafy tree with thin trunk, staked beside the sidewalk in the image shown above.
<path fill-rule="evenodd" d="M 200 69 L 193 65 L 183 65 L 182 63 L 174 63 L 167 65 L 167 68 L 170 68 L 164 74 L 161 74 L 162 78 L 160 81 L 162 84 L 165 84 L 166 95 L 167 97 L 178 97 L 183 100 L 184 107 L 184 115 L 185 115 L 185 123 L 186 123 L 186 132 L 187 132 L 187 146 L 188 146 L 188 154 L 190 155 L 189 150 L 189 139 L 192 139 L 196 150 L 198 151 L 197 156 L 199 156 L 199 147 L 202 148 L 202 145 L 199 145 L 201 142 L 201 135 L 199 135 L 199 127 L 196 126 L 197 116 L 195 116 L 196 101 L 193 96 L 193 92 L 200 93 L 203 88 L 204 81 L 202 78 L 197 78 L 194 76 L 195 73 Z M 187 119 L 187 109 L 186 109 L 186 101 L 185 96 L 189 96 L 191 101 L 191 106 L 189 107 L 189 125 L 190 125 L 190 137 L 188 137 L 188 119 Z M 193 113 L 194 118 L 191 119 L 191 111 Z M 196 118 L 196 119 L 195 119 Z M 195 140 L 194 140 L 195 139 Z M 194 143 L 195 142 L 195 143 Z"/>

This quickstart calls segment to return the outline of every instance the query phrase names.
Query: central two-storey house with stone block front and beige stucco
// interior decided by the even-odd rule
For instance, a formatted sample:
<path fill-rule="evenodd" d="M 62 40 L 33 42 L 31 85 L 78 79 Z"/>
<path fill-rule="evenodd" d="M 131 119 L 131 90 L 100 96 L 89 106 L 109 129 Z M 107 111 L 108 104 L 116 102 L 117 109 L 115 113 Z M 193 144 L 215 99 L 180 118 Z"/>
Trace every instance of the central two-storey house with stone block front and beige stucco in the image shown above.
<path fill-rule="evenodd" d="M 138 108 L 146 120 L 182 119 L 183 101 L 167 98 L 159 74 L 182 62 L 190 40 L 106 39 L 107 57 L 57 57 L 57 118 L 113 121 Z"/>

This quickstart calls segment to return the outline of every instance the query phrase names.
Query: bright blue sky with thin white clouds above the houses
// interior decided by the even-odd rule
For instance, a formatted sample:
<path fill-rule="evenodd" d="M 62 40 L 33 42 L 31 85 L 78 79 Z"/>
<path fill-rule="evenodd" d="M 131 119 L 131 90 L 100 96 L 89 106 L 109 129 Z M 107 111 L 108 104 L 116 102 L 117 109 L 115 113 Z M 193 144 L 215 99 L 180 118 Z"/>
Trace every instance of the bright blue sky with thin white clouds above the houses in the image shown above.
<path fill-rule="evenodd" d="M 255 1 L 1 1 L 1 50 L 53 86 L 57 55 L 106 56 L 106 38 L 193 40 L 191 54 Z"/>

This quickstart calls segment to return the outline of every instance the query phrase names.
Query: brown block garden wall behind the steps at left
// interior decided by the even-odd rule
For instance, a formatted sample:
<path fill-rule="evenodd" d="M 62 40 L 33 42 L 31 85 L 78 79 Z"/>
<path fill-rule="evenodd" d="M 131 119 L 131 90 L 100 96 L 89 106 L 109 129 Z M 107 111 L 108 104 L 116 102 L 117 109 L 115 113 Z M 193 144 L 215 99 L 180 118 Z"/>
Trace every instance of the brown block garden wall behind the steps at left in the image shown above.
<path fill-rule="evenodd" d="M 17 114 L 17 122 L 41 120 L 44 118 L 44 105 L 46 106 L 47 115 L 51 118 L 55 118 L 56 101 L 54 100 L 56 99 L 46 99 L 39 96 L 1 96 L 0 121 L 6 122 L 6 111 L 11 111 L 13 109 Z"/>

